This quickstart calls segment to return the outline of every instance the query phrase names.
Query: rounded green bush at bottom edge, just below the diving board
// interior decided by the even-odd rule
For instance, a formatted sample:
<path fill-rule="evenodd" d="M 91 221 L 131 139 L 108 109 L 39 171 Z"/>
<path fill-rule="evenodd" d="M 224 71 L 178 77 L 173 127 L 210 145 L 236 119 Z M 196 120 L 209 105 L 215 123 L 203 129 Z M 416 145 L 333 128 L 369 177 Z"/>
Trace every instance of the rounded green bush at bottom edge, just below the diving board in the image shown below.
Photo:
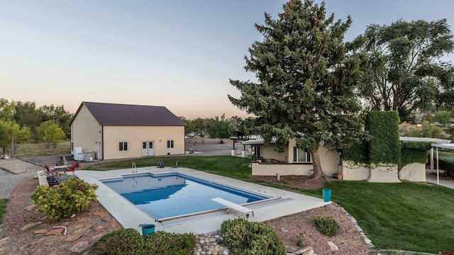
<path fill-rule="evenodd" d="M 284 244 L 276 232 L 264 223 L 245 219 L 226 220 L 221 224 L 221 235 L 231 254 L 285 254 Z"/>

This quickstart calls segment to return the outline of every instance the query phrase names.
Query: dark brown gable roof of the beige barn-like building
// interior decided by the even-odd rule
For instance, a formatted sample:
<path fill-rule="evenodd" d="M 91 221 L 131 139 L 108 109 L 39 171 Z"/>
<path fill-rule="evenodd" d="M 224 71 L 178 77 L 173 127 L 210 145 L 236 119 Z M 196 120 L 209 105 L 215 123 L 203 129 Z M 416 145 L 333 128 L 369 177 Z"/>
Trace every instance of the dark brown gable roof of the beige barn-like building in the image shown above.
<path fill-rule="evenodd" d="M 87 107 L 101 125 L 186 125 L 164 106 L 136 106 L 118 103 L 82 102 L 76 114 L 74 114 L 74 118 L 76 118 L 83 106 Z M 72 118 L 71 123 L 74 118 Z"/>

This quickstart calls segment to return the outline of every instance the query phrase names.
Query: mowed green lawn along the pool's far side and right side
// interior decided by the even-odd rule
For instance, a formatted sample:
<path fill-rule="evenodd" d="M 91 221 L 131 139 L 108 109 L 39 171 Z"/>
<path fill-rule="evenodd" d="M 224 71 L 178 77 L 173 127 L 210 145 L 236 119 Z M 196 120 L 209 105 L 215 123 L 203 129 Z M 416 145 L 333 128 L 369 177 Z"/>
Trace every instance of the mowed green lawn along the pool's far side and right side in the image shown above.
<path fill-rule="evenodd" d="M 230 156 L 155 157 L 92 166 L 91 170 L 155 166 L 179 166 L 250 181 L 250 159 Z M 262 185 L 263 182 L 255 181 Z M 285 186 L 289 191 L 321 198 L 321 190 L 308 191 Z M 454 190 L 426 183 L 368 183 L 333 181 L 331 200 L 350 212 L 377 249 L 400 249 L 436 253 L 454 250 Z"/>

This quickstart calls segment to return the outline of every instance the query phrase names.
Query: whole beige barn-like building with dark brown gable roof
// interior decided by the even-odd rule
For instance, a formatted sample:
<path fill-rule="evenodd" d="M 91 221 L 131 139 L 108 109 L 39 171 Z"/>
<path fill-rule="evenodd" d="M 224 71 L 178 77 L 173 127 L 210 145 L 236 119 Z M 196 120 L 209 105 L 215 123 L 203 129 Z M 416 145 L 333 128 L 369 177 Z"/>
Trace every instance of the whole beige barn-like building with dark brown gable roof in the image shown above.
<path fill-rule="evenodd" d="M 82 102 L 70 122 L 74 159 L 184 154 L 185 123 L 163 106 Z"/>

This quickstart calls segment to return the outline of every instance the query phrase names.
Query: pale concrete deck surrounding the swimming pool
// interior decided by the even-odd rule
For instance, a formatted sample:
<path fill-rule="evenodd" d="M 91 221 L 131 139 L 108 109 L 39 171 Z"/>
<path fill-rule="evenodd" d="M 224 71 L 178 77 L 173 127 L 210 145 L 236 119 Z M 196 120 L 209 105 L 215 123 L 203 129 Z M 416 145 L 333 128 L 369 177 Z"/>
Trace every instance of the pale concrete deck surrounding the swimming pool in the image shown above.
<path fill-rule="evenodd" d="M 140 173 L 181 173 L 187 176 L 193 176 L 199 179 L 205 179 L 216 183 L 222 183 L 227 186 L 241 188 L 246 191 L 260 193 L 265 196 L 277 198 L 262 203 L 254 203 L 245 205 L 254 211 L 254 217 L 249 217 L 250 221 L 263 222 L 285 215 L 292 215 L 297 212 L 319 208 L 328 203 L 323 202 L 323 199 L 305 196 L 289 191 L 282 191 L 278 188 L 270 188 L 260 186 L 255 183 L 248 183 L 237 179 L 231 179 L 224 176 L 209 174 L 204 171 L 187 169 L 184 167 L 172 168 L 157 168 L 156 166 L 142 167 L 137 169 L 137 174 Z M 99 186 L 96 191 L 99 202 L 113 215 L 123 228 L 133 228 L 138 232 L 142 232 L 141 225 L 153 224 L 156 230 L 164 230 L 166 232 L 203 234 L 213 232 L 221 228 L 221 223 L 224 220 L 234 219 L 238 216 L 244 217 L 239 212 L 231 210 L 227 215 L 226 210 L 216 210 L 214 212 L 201 213 L 188 217 L 181 217 L 175 220 L 166 220 L 156 222 L 153 217 L 150 217 L 142 210 L 138 209 L 131 202 L 123 198 L 111 188 L 101 183 L 99 179 L 115 178 L 121 175 L 133 174 L 132 169 L 119 169 L 110 171 L 77 171 L 77 176 L 88 183 L 94 183 Z M 134 173 L 135 174 L 135 173 Z M 71 175 L 71 174 L 70 174 Z"/>

